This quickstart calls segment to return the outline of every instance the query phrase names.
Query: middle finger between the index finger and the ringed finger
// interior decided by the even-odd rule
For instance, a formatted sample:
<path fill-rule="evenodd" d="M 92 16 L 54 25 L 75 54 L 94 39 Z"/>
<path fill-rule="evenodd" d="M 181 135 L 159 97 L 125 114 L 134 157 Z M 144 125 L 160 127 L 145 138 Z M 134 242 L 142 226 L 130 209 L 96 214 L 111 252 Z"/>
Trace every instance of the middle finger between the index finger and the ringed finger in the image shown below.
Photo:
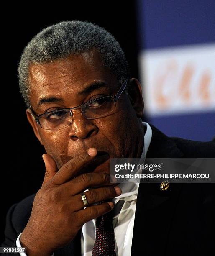
<path fill-rule="evenodd" d="M 110 175 L 107 173 L 84 173 L 61 185 L 67 195 L 77 195 L 82 191 L 95 187 L 110 186 Z"/>

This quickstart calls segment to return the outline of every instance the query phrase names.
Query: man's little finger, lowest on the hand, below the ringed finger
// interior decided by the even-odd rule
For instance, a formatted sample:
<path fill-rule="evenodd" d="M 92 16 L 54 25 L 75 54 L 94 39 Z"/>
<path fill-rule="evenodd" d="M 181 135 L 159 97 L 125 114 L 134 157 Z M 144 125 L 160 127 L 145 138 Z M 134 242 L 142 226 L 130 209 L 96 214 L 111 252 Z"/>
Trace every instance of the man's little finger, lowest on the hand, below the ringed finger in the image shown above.
<path fill-rule="evenodd" d="M 112 209 L 113 202 L 105 202 L 100 205 L 93 205 L 83 210 L 77 211 L 76 216 L 77 220 L 79 220 L 79 228 L 81 228 L 84 223 L 93 220 L 107 212 L 110 212 Z"/>

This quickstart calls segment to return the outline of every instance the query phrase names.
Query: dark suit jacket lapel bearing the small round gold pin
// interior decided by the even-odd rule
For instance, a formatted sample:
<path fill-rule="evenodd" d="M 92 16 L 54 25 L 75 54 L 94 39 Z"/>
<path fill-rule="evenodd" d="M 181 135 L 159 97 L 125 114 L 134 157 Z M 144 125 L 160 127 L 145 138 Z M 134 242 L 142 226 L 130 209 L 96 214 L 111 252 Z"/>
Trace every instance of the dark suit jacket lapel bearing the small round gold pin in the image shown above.
<path fill-rule="evenodd" d="M 153 125 L 152 139 L 146 158 L 181 158 L 175 142 Z M 166 190 L 160 184 L 141 183 L 138 190 L 131 255 L 163 255 L 166 250 L 171 220 L 177 206 L 181 184 L 170 184 Z M 155 244 L 156 241 L 156 244 Z"/>

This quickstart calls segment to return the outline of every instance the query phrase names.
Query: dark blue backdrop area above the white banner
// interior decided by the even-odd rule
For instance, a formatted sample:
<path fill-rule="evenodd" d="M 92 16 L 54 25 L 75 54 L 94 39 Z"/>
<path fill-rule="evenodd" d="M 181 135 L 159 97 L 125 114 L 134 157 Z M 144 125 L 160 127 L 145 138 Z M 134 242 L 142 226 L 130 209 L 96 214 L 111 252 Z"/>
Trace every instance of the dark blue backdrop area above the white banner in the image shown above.
<path fill-rule="evenodd" d="M 215 41 L 215 0 L 138 0 L 140 49 Z"/>

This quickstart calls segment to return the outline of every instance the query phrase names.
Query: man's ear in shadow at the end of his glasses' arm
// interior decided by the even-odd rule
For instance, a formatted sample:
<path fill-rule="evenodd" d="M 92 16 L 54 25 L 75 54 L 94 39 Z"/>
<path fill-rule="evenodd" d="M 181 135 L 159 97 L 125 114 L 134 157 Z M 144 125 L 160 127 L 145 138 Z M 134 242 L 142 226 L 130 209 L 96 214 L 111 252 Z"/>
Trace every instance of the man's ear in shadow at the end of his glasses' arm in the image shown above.
<path fill-rule="evenodd" d="M 144 102 L 142 97 L 141 84 L 136 78 L 131 78 L 128 82 L 128 97 L 138 118 L 143 117 Z"/>

